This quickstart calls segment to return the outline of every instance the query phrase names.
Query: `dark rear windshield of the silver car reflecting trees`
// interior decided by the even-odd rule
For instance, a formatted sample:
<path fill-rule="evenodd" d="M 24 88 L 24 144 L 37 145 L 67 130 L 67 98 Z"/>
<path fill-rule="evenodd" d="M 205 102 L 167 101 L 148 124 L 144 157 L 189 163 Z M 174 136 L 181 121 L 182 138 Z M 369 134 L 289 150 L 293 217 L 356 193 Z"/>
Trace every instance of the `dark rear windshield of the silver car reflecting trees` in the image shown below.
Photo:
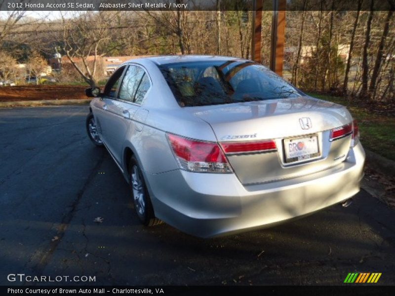
<path fill-rule="evenodd" d="M 251 61 L 186 62 L 159 69 L 182 107 L 296 98 L 298 89 Z"/>

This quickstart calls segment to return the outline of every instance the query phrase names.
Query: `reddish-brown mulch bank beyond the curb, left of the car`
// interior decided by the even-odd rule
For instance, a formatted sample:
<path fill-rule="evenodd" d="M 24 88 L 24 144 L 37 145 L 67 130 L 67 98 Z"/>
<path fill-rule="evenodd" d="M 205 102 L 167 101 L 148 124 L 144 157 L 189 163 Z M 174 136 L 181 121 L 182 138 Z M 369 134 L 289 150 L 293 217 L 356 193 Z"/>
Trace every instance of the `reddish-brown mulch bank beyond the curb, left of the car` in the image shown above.
<path fill-rule="evenodd" d="M 4 86 L 0 87 L 0 102 L 88 99 L 85 88 L 79 85 Z"/>

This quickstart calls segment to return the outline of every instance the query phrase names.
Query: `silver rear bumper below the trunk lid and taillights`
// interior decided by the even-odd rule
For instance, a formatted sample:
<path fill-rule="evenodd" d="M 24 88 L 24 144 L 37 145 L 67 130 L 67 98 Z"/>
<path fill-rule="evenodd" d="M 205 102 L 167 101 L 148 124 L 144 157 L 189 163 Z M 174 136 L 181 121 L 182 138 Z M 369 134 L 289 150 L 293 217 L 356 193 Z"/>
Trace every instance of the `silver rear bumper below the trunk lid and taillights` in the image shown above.
<path fill-rule="evenodd" d="M 288 180 L 243 186 L 234 174 L 173 170 L 145 173 L 156 216 L 192 235 L 211 237 L 303 216 L 359 191 L 360 145 L 336 167 Z"/>

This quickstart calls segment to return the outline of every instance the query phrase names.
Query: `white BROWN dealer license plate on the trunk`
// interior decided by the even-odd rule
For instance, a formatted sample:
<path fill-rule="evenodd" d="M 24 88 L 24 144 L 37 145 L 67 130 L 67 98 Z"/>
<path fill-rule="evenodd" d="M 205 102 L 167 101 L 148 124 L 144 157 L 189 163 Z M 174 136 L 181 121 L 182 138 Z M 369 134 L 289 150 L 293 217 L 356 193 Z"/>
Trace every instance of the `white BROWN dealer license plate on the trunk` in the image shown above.
<path fill-rule="evenodd" d="M 316 135 L 284 139 L 285 162 L 306 161 L 319 156 Z"/>

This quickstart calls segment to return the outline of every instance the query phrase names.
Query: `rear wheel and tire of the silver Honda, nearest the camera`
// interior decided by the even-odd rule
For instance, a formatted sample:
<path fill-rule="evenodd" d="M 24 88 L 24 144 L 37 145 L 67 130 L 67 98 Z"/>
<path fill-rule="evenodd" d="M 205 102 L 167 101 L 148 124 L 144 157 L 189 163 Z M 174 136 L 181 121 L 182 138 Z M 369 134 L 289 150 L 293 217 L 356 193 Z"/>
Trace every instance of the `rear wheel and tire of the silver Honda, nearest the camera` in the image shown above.
<path fill-rule="evenodd" d="M 130 192 L 137 217 L 145 226 L 154 226 L 160 224 L 161 221 L 155 217 L 150 194 L 148 193 L 147 185 L 141 172 L 140 165 L 134 156 L 130 158 L 127 169 L 129 172 Z"/>

